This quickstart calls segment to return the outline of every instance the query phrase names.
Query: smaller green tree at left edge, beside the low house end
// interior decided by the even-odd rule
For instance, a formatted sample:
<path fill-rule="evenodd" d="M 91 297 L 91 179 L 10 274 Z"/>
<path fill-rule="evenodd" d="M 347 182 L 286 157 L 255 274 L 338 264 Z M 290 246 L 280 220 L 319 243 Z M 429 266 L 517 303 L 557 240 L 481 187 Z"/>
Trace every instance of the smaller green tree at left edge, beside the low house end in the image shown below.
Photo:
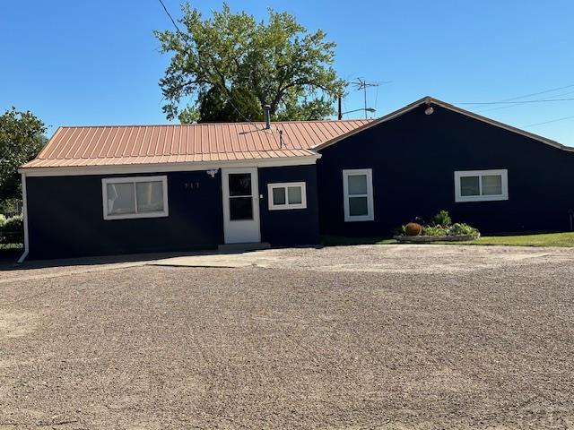
<path fill-rule="evenodd" d="M 0 116 L 0 200 L 21 195 L 18 168 L 38 154 L 46 143 L 46 127 L 30 111 L 14 107 Z"/>

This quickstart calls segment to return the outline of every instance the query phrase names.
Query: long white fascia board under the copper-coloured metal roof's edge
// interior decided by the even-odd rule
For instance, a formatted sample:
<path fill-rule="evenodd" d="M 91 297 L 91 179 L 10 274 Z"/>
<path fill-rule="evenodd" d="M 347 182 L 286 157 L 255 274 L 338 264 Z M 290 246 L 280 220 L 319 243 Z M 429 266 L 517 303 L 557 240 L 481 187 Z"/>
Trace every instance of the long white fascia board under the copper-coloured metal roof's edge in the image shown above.
<path fill-rule="evenodd" d="M 279 157 L 274 159 L 239 159 L 222 161 L 198 161 L 181 163 L 150 163 L 105 166 L 75 166 L 54 168 L 20 168 L 26 176 L 89 176 L 89 175 L 131 175 L 139 173 L 191 172 L 213 168 L 274 168 L 282 166 L 307 166 L 317 163 L 321 154 L 301 157 Z"/>

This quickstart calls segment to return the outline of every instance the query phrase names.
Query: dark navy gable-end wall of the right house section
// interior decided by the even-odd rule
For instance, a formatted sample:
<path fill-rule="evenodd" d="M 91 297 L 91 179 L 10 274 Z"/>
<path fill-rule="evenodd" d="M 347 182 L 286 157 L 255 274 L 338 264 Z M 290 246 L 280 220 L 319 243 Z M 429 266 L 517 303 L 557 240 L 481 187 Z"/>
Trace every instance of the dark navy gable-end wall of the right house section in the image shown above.
<path fill-rule="evenodd" d="M 483 232 L 570 229 L 574 153 L 434 106 L 425 106 L 320 150 L 321 232 L 388 235 L 442 209 Z M 344 222 L 345 168 L 372 168 L 374 221 Z M 455 170 L 508 169 L 509 200 L 455 202 Z"/>

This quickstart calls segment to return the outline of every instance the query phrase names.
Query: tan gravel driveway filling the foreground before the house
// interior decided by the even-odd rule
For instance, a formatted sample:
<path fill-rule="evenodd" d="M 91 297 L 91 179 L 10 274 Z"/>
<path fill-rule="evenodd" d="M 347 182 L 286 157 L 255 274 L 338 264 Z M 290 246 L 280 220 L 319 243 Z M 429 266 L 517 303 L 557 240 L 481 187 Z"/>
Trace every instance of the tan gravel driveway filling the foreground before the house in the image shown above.
<path fill-rule="evenodd" d="M 0 271 L 0 429 L 574 428 L 574 250 Z"/>

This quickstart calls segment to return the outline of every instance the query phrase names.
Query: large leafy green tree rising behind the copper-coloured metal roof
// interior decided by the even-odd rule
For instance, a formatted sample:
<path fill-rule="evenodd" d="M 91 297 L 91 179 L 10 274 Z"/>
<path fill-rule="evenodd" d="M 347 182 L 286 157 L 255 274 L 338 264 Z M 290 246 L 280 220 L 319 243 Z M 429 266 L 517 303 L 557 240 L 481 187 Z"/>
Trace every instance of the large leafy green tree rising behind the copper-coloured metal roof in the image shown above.
<path fill-rule="evenodd" d="M 221 12 L 204 19 L 182 6 L 178 30 L 155 31 L 171 61 L 160 85 L 169 119 L 253 121 L 271 106 L 278 119 L 319 119 L 334 113 L 346 82 L 333 68 L 335 43 L 310 33 L 289 13 L 269 9 L 266 22 L 248 13 Z M 179 107 L 186 99 L 194 104 Z"/>

